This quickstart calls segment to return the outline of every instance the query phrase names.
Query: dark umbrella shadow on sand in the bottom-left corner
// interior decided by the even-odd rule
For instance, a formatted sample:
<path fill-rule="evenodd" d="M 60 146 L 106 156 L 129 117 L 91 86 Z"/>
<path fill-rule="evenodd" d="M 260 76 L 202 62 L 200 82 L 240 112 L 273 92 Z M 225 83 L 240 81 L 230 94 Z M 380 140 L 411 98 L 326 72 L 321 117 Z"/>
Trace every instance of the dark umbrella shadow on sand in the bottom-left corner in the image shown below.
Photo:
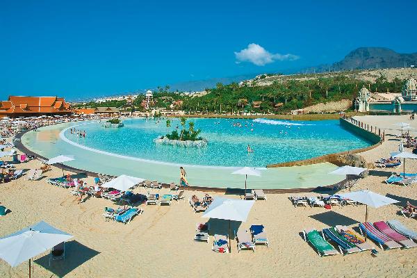
<path fill-rule="evenodd" d="M 79 265 L 97 256 L 97 254 L 99 252 L 96 250 L 92 250 L 78 241 L 72 240 L 65 243 L 65 259 L 51 261 L 49 266 L 49 254 L 47 254 L 34 262 L 54 273 L 54 275 L 64 277 L 72 270 L 78 268 Z"/>

